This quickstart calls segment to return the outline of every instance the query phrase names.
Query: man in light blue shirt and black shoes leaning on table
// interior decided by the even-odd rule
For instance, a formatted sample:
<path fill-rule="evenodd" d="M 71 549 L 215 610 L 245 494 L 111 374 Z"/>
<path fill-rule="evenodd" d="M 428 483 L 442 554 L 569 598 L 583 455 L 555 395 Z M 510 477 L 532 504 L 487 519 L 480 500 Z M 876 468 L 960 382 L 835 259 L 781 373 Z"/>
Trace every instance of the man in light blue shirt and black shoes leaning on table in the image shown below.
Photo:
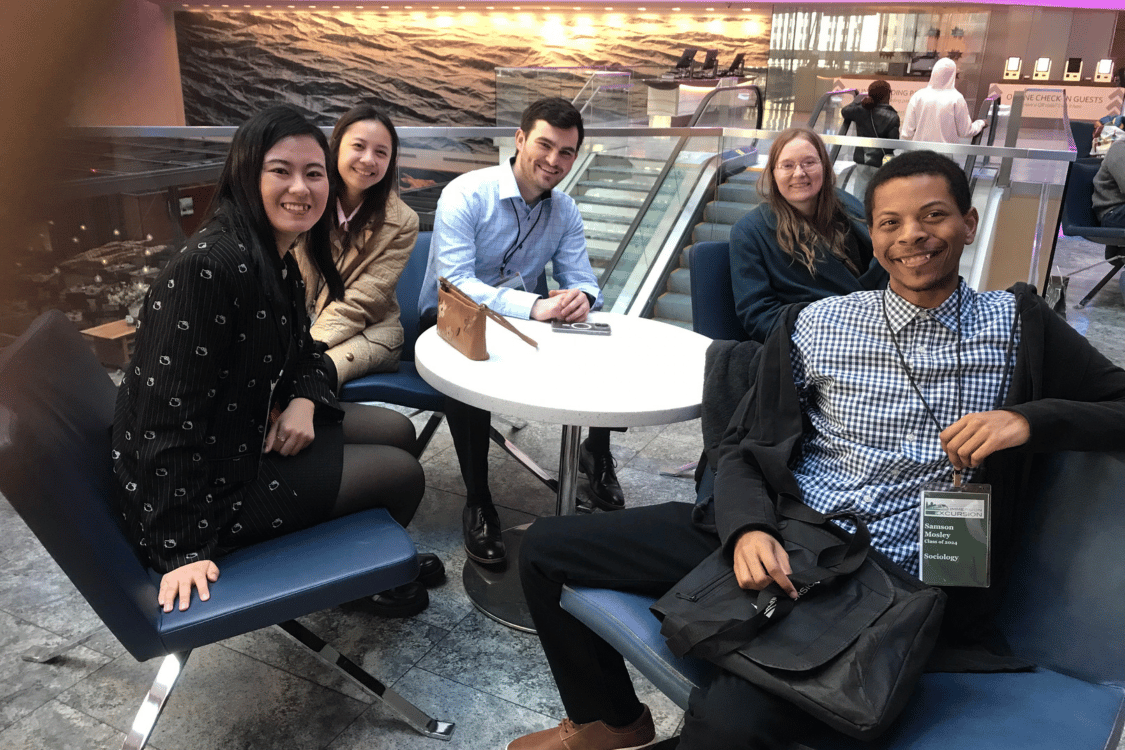
<path fill-rule="evenodd" d="M 582 215 L 569 196 L 555 190 L 574 166 L 582 139 L 578 110 L 565 99 L 541 99 L 523 112 L 508 163 L 462 174 L 446 187 L 418 298 L 423 327 L 436 319 L 440 277 L 501 315 L 518 318 L 574 323 L 601 307 Z M 561 288 L 540 297 L 532 289 L 548 261 Z M 575 362 L 576 387 L 585 379 L 584 367 L 596 371 L 597 363 Z M 465 549 L 477 562 L 500 562 L 504 541 L 488 489 L 492 415 L 448 399 L 446 416 L 467 493 Z M 590 431 L 582 467 L 598 507 L 623 507 L 608 430 Z"/>

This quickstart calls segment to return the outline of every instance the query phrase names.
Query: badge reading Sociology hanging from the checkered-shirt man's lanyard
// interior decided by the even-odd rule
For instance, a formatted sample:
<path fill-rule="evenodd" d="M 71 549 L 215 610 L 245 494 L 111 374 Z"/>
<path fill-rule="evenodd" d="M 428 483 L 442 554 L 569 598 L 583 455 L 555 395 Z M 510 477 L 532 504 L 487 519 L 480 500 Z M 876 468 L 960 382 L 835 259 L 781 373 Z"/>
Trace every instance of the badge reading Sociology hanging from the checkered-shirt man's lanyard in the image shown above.
<path fill-rule="evenodd" d="M 934 482 L 921 489 L 918 569 L 930 586 L 987 588 L 991 568 L 990 485 Z"/>

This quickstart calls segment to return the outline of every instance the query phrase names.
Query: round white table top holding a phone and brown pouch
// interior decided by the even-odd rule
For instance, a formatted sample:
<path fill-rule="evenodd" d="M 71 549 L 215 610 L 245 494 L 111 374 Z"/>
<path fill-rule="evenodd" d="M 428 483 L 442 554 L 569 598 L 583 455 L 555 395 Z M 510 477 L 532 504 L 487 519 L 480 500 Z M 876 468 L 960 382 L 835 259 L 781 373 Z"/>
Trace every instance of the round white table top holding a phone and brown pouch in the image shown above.
<path fill-rule="evenodd" d="M 636 427 L 700 415 L 706 336 L 614 313 L 590 317 L 609 323 L 609 336 L 556 333 L 549 323 L 508 319 L 539 349 L 489 320 L 489 359 L 474 362 L 433 327 L 415 345 L 418 373 L 470 406 L 539 422 Z"/>

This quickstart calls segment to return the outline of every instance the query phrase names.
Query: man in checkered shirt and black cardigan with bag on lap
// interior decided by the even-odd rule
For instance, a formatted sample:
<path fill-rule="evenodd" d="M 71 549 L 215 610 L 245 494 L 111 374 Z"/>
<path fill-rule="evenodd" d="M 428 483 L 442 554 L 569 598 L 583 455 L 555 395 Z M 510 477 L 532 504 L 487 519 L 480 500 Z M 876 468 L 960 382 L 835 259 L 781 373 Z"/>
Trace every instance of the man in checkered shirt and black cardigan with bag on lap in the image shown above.
<path fill-rule="evenodd" d="M 888 288 L 786 308 L 727 430 L 702 523 L 693 505 L 668 503 L 538 518 L 528 530 L 520 577 L 568 719 L 508 750 L 650 742 L 651 715 L 620 654 L 560 608 L 561 587 L 660 596 L 723 549 L 744 588 L 775 581 L 795 597 L 773 500 L 783 493 L 821 513 L 860 513 L 872 545 L 917 575 L 921 486 L 948 481 L 953 470 L 966 481 L 987 473 L 993 585 L 947 589 L 929 668 L 1028 668 L 1007 656 L 991 614 L 1019 543 L 1029 462 L 1043 451 L 1125 449 L 1125 371 L 1033 288 L 978 293 L 960 280 L 978 217 L 964 172 L 945 156 L 908 152 L 883 166 L 867 190 L 867 222 Z M 788 748 L 816 729 L 810 723 L 792 704 L 720 672 L 692 693 L 682 735 L 660 747 Z"/>

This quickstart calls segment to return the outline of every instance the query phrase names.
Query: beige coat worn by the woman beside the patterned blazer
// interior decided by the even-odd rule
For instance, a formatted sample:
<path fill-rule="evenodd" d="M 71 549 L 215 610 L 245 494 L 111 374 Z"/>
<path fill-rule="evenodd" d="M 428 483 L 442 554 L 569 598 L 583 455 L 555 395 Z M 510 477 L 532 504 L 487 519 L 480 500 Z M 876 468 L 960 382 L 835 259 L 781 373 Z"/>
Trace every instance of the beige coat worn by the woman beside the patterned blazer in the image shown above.
<path fill-rule="evenodd" d="M 308 314 L 315 320 L 309 333 L 327 344 L 340 385 L 370 372 L 398 369 L 403 326 L 395 286 L 417 234 L 417 214 L 396 193 L 387 198 L 382 227 L 368 227 L 359 243 L 348 243 L 344 233 L 333 231 L 332 256 L 344 282 L 343 299 L 334 302 L 328 302 L 327 286 L 308 254 L 298 253 Z"/>

